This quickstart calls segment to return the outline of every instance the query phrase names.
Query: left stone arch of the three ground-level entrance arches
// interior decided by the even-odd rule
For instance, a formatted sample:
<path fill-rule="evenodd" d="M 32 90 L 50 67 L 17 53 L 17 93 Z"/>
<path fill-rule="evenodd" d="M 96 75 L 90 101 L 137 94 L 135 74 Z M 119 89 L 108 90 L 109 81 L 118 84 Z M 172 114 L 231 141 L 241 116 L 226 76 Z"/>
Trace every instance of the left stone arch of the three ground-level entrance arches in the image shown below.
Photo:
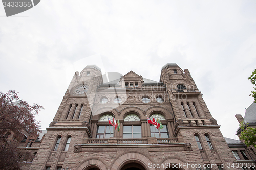
<path fill-rule="evenodd" d="M 99 168 L 100 170 L 108 170 L 104 161 L 99 158 L 89 158 L 80 163 L 76 170 L 87 170 L 90 167 Z"/>

